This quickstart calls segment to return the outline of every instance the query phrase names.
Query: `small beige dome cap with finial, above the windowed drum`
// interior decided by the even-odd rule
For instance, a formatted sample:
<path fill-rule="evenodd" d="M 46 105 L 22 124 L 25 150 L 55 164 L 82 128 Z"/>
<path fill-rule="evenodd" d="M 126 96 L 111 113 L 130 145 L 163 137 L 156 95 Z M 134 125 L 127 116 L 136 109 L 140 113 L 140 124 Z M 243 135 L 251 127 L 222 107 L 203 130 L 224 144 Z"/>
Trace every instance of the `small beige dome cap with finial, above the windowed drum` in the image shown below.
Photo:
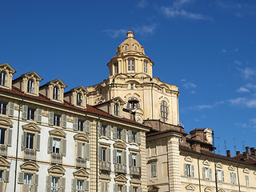
<path fill-rule="evenodd" d="M 144 47 L 134 39 L 134 32 L 128 31 L 126 40 L 118 46 L 117 56 L 120 54 L 141 54 L 145 55 Z"/>

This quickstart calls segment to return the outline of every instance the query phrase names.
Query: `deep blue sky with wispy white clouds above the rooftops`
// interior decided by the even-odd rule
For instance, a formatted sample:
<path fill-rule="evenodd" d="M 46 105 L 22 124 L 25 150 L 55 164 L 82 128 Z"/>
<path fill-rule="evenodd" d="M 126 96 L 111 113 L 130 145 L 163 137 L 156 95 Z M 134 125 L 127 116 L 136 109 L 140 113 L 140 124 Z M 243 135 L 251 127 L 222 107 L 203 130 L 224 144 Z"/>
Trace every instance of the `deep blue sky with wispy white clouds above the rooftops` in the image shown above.
<path fill-rule="evenodd" d="M 70 90 L 109 77 L 106 63 L 126 31 L 154 61 L 154 77 L 179 87 L 189 132 L 214 130 L 217 153 L 254 146 L 256 2 L 204 0 L 1 1 L 0 63 L 14 78 L 35 70 L 41 85 Z"/>

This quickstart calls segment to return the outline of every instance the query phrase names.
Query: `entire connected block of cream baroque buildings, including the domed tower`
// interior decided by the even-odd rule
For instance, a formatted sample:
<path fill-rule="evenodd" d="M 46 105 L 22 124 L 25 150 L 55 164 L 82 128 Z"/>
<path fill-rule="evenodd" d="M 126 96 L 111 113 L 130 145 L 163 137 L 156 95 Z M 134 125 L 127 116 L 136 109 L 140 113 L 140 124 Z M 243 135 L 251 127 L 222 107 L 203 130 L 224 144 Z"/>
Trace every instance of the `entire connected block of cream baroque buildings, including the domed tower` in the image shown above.
<path fill-rule="evenodd" d="M 0 65 L 0 192 L 256 191 L 256 150 L 214 154 L 209 128 L 179 125 L 178 87 L 127 32 L 94 86 L 13 79 Z"/>

